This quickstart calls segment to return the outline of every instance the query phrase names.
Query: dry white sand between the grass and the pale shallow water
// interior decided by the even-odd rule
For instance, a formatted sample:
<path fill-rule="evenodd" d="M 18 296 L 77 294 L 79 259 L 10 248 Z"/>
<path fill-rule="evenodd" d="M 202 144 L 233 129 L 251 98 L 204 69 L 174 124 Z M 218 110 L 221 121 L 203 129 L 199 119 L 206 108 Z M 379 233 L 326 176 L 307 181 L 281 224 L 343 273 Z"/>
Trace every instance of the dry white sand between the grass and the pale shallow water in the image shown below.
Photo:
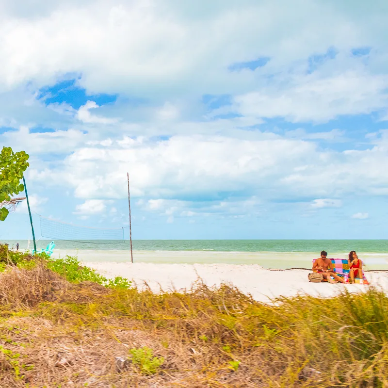
<path fill-rule="evenodd" d="M 343 285 L 309 283 L 308 271 L 268 270 L 257 264 L 154 264 L 130 262 L 90 262 L 84 265 L 97 270 L 101 275 L 112 278 L 122 276 L 132 279 L 144 287 L 144 281 L 152 291 L 161 289 L 181 290 L 190 288 L 200 277 L 208 286 L 222 283 L 233 284 L 240 291 L 250 293 L 254 299 L 268 302 L 277 296 L 292 296 L 298 293 L 330 297 L 347 289 L 350 292 L 365 291 L 366 285 Z M 388 293 L 388 273 L 367 273 L 369 282 Z"/>

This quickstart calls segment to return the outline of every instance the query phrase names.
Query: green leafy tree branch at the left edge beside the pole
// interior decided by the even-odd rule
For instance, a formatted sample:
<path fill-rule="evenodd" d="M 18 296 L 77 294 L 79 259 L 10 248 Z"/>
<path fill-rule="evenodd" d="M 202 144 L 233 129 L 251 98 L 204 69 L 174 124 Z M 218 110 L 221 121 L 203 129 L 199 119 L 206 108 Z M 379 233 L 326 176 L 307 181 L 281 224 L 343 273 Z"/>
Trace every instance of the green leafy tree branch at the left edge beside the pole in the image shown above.
<path fill-rule="evenodd" d="M 24 190 L 20 183 L 24 171 L 30 165 L 29 155 L 24 151 L 14 152 L 11 147 L 3 147 L 0 153 L 0 221 L 7 218 L 9 210 L 5 207 L 12 203 L 11 196 Z"/>

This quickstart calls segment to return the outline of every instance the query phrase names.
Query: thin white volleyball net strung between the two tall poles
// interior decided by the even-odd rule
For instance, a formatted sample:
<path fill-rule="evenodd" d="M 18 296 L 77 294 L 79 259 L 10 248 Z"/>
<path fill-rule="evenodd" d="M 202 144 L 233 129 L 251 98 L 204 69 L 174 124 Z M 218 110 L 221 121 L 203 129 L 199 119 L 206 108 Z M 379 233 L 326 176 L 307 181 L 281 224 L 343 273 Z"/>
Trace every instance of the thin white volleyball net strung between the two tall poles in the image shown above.
<path fill-rule="evenodd" d="M 115 229 L 97 228 L 88 226 L 76 226 L 64 222 L 52 220 L 50 218 L 39 216 L 40 233 L 42 237 L 52 240 L 66 240 L 74 242 L 92 242 L 104 243 L 112 240 L 125 240 L 125 229 L 121 227 Z"/>

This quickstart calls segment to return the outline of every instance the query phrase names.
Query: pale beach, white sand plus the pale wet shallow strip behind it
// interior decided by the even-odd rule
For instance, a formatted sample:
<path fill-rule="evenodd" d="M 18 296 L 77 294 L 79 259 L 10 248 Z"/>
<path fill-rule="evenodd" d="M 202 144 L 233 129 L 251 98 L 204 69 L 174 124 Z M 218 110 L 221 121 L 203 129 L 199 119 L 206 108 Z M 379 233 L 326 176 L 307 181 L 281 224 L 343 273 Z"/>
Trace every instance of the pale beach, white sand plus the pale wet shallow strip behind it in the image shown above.
<path fill-rule="evenodd" d="M 77 256 L 83 265 L 108 278 L 122 276 L 139 288 L 154 292 L 190 289 L 195 282 L 233 285 L 257 301 L 280 296 L 308 294 L 331 297 L 345 289 L 365 291 L 367 285 L 309 283 L 314 253 L 308 252 L 214 252 L 214 251 L 133 251 L 56 249 L 54 257 Z M 333 257 L 344 257 L 343 253 Z M 369 255 L 365 269 L 387 269 L 387 254 Z M 368 262 L 370 264 L 368 264 Z M 376 268 L 377 267 L 377 268 Z M 371 285 L 388 292 L 388 272 L 366 272 Z"/>

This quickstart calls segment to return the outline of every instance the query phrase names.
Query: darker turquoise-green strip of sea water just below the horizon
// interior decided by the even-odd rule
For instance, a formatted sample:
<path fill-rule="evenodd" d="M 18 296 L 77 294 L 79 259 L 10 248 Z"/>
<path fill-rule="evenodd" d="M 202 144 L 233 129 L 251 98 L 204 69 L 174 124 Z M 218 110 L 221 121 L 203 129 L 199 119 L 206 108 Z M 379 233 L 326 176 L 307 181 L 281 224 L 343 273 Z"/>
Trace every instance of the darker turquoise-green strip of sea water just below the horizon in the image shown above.
<path fill-rule="evenodd" d="M 8 242 L 16 246 L 16 240 Z M 20 249 L 32 248 L 32 241 L 20 240 Z M 37 242 L 44 248 L 48 240 Z M 89 240 L 55 241 L 57 249 L 78 250 L 129 250 L 129 241 Z M 331 252 L 388 253 L 388 240 L 134 240 L 133 249 L 138 251 L 218 251 L 218 252 Z"/>

